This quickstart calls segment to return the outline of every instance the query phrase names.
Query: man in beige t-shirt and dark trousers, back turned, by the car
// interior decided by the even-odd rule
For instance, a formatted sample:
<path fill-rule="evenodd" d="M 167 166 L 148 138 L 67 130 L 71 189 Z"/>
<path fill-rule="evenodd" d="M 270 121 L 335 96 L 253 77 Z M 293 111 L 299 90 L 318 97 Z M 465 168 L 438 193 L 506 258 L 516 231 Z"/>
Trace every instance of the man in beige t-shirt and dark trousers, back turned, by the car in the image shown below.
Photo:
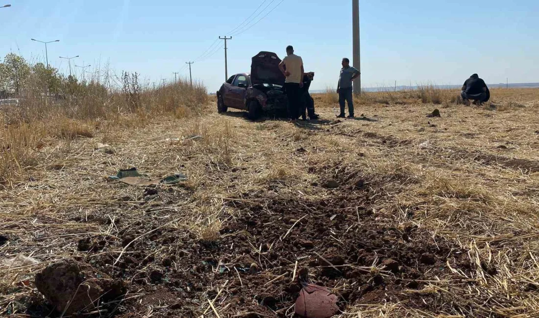
<path fill-rule="evenodd" d="M 285 75 L 285 90 L 288 97 L 288 116 L 295 122 L 300 116 L 301 90 L 303 87 L 303 60 L 294 54 L 292 45 L 286 47 L 287 56 L 279 63 L 281 73 Z"/>

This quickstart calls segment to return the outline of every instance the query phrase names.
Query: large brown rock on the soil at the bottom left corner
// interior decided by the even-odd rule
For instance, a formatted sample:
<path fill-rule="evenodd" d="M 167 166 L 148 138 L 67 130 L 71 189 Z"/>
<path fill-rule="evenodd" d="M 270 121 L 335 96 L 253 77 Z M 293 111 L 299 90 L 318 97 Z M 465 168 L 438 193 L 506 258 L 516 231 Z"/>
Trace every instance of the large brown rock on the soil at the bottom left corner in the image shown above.
<path fill-rule="evenodd" d="M 123 281 L 74 260 L 52 264 L 36 274 L 36 287 L 65 315 L 92 311 L 99 301 L 118 298 L 126 291 Z"/>

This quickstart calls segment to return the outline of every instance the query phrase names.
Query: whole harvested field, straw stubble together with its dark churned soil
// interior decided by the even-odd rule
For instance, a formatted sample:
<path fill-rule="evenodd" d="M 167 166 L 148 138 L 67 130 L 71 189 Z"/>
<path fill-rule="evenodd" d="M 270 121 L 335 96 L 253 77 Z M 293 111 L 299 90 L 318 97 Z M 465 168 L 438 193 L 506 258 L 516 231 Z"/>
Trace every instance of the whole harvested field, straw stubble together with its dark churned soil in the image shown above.
<path fill-rule="evenodd" d="M 94 316 L 292 317 L 301 276 L 342 317 L 539 317 L 539 90 L 493 90 L 495 107 L 423 93 L 367 94 L 357 120 L 324 94 L 309 123 L 213 102 L 68 121 L 1 185 L 0 259 L 40 264 L 0 267 L 0 316 L 61 316 L 33 280 L 70 258 L 128 284 Z M 189 179 L 107 179 L 131 167 Z"/>

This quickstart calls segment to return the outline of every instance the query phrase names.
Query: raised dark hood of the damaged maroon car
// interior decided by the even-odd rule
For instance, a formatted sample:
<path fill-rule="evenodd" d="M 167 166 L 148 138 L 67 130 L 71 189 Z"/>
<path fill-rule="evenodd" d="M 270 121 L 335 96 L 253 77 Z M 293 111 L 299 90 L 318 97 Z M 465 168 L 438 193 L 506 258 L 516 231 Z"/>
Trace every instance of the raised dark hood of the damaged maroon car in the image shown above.
<path fill-rule="evenodd" d="M 281 59 L 272 52 L 260 52 L 253 56 L 251 82 L 254 84 L 275 84 L 283 86 L 285 75 L 279 70 Z"/>

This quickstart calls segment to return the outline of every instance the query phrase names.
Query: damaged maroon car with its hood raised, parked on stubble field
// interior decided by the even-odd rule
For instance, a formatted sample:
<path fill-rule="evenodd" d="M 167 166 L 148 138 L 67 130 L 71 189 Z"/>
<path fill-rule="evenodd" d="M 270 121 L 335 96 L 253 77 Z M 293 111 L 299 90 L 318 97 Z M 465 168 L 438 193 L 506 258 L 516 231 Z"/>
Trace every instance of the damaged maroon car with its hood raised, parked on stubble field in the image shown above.
<path fill-rule="evenodd" d="M 285 112 L 288 99 L 284 89 L 285 76 L 279 70 L 280 62 L 279 56 L 272 52 L 253 56 L 251 73 L 232 75 L 217 91 L 217 111 L 243 109 L 250 119 Z"/>

